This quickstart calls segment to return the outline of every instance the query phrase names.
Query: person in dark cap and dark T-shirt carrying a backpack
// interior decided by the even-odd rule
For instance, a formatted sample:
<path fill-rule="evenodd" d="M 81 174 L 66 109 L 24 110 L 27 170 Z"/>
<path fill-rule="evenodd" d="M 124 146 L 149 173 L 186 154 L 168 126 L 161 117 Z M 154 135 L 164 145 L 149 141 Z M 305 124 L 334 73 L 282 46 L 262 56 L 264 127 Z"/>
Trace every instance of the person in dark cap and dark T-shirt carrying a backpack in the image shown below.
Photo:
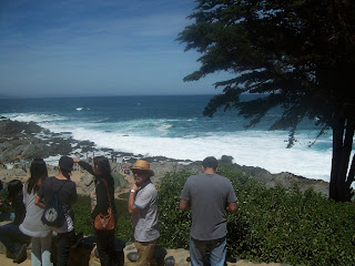
<path fill-rule="evenodd" d="M 70 174 L 73 171 L 73 160 L 68 156 L 62 156 L 59 160 L 59 173 L 57 176 L 48 177 L 42 183 L 37 193 L 34 204 L 41 208 L 49 204 L 51 196 L 58 193 L 59 200 L 64 211 L 65 221 L 61 227 L 50 228 L 58 233 L 57 236 L 57 266 L 65 266 L 68 263 L 69 250 L 77 239 L 74 231 L 74 213 L 72 204 L 77 202 L 77 185 L 70 180 Z"/>

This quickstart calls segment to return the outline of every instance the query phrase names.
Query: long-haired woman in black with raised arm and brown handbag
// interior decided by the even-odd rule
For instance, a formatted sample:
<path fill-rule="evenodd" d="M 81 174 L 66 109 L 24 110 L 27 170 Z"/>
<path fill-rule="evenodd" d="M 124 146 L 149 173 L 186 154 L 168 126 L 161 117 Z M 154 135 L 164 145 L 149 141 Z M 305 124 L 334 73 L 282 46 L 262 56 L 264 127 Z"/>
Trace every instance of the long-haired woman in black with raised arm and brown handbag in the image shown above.
<path fill-rule="evenodd" d="M 114 206 L 114 181 L 111 175 L 111 165 L 106 157 L 97 156 L 93 158 L 92 166 L 87 162 L 74 158 L 81 167 L 92 174 L 95 183 L 95 191 L 91 193 L 91 218 L 97 215 L 108 215 L 108 208 L 111 206 L 114 219 L 116 219 L 116 211 Z M 95 229 L 97 247 L 100 255 L 100 262 L 103 266 L 116 264 L 116 255 L 114 250 L 114 228 L 113 229 Z"/>

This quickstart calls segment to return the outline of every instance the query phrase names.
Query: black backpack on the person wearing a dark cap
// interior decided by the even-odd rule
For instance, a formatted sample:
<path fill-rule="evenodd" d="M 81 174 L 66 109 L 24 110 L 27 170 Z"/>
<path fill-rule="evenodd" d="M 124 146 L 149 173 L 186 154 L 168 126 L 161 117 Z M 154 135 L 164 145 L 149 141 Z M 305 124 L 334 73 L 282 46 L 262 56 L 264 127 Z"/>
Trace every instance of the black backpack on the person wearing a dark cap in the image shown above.
<path fill-rule="evenodd" d="M 57 192 L 53 192 L 51 198 L 45 204 L 44 212 L 41 218 L 42 223 L 45 225 L 61 227 L 65 222 L 64 209 L 59 200 L 59 191 L 62 188 L 65 182 L 63 182 L 63 184 L 59 187 Z"/>

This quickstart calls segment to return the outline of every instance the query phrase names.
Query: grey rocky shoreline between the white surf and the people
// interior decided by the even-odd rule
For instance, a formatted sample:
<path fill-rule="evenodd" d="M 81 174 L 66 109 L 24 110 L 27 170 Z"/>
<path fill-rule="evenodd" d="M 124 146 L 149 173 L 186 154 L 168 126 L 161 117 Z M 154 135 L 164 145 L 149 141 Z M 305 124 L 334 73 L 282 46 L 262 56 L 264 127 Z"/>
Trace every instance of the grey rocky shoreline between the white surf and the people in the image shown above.
<path fill-rule="evenodd" d="M 64 136 L 63 136 L 64 135 Z M 142 154 L 124 153 L 112 149 L 99 150 L 94 143 L 89 141 L 77 141 L 70 133 L 57 134 L 39 126 L 34 122 L 18 122 L 0 116 L 0 162 L 7 165 L 18 165 L 12 170 L 0 171 L 0 180 L 8 181 L 10 176 L 21 176 L 27 172 L 27 166 L 33 157 L 50 157 L 60 155 L 88 157 L 88 154 L 103 153 L 121 167 L 122 164 L 131 165 L 136 158 L 144 158 L 151 163 L 155 172 L 155 182 L 166 172 L 175 172 L 190 168 L 199 172 L 201 162 L 173 160 L 164 156 L 144 157 Z M 232 162 L 232 157 L 222 156 L 221 161 Z M 120 163 L 116 163 L 116 162 Z M 234 164 L 237 168 L 248 173 L 256 181 L 266 186 L 282 185 L 284 187 L 297 186 L 301 191 L 313 187 L 315 192 L 327 196 L 328 183 L 320 180 L 310 180 L 292 173 L 282 172 L 272 174 L 261 167 Z M 118 168 L 119 172 L 119 168 Z M 26 173 L 24 173 L 26 174 Z"/>

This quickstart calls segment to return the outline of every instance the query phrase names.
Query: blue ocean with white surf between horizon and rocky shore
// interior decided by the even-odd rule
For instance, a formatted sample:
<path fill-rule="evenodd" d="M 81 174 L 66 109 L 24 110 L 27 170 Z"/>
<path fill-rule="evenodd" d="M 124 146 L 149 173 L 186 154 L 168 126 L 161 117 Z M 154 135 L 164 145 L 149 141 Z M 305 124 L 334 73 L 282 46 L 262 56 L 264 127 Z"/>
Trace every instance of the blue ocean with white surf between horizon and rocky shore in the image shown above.
<path fill-rule="evenodd" d="M 0 114 L 33 121 L 64 137 L 89 140 L 99 149 L 192 161 L 230 155 L 240 165 L 329 181 L 332 131 L 308 147 L 318 127 L 305 121 L 296 133 L 295 145 L 286 149 L 288 132 L 268 131 L 271 122 L 281 115 L 280 110 L 245 130 L 247 121 L 235 110 L 203 116 L 211 96 L 0 99 Z"/>

